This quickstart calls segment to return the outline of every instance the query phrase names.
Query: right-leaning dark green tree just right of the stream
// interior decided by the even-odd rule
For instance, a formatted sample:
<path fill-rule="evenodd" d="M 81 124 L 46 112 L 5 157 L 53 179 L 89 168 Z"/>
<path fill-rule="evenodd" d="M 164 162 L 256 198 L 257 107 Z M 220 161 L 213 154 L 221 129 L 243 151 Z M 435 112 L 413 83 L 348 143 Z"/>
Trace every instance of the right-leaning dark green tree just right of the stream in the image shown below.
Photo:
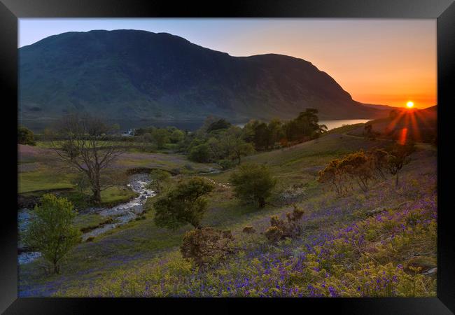
<path fill-rule="evenodd" d="M 214 186 L 200 177 L 181 181 L 176 188 L 159 197 L 153 204 L 155 224 L 161 228 L 176 230 L 190 223 L 201 228 L 201 220 L 207 211 L 207 199 L 204 197 Z"/>

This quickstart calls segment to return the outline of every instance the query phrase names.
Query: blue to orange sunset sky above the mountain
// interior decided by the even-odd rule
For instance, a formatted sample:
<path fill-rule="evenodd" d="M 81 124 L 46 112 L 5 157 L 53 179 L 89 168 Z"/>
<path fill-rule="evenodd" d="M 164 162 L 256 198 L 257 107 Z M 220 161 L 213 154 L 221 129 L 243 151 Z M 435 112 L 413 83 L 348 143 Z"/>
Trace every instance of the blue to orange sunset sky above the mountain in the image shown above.
<path fill-rule="evenodd" d="M 232 56 L 290 55 L 328 73 L 358 102 L 437 104 L 435 19 L 21 18 L 18 45 L 92 29 L 166 32 Z"/>

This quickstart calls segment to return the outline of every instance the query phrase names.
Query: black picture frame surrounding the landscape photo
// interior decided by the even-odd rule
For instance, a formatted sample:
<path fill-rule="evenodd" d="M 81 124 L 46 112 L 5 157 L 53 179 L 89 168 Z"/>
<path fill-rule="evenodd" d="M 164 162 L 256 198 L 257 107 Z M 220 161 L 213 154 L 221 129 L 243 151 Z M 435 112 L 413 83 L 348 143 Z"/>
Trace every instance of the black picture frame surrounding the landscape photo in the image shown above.
<path fill-rule="evenodd" d="M 188 307 L 197 310 L 195 300 L 214 304 L 213 311 L 237 310 L 239 307 L 262 306 L 283 311 L 283 307 L 297 307 L 301 311 L 332 310 L 346 314 L 454 314 L 455 312 L 455 246 L 451 232 L 449 194 L 451 187 L 444 185 L 451 178 L 444 166 L 449 160 L 449 135 L 444 126 L 449 120 L 454 102 L 455 4 L 454 0 L 262 0 L 213 1 L 211 3 L 186 1 L 120 1 L 120 0 L 0 0 L 0 80 L 3 90 L 3 110 L 8 111 L 10 128 L 17 127 L 18 100 L 18 18 L 435 18 L 437 19 L 437 99 L 438 99 L 438 232 L 437 232 L 437 297 L 428 298 L 336 298 L 336 299 L 95 299 L 95 298 L 18 298 L 17 214 L 13 209 L 12 191 L 5 193 L 1 219 L 0 255 L 0 311 L 5 314 L 85 314 L 94 307 L 111 307 L 117 311 L 144 306 L 159 311 L 158 306 Z M 13 165 L 17 158 L 17 143 L 10 135 L 5 146 L 10 156 L 3 165 Z M 444 143 L 448 142 L 444 145 Z M 8 179 L 17 183 L 13 167 Z M 441 171 L 441 169 L 443 171 Z M 17 186 L 16 186 L 17 187 Z M 17 190 L 16 192 L 17 193 Z M 282 304 L 283 303 L 283 304 Z M 125 305 L 126 304 L 126 305 Z M 165 305 L 164 305 L 165 304 Z M 241 304 L 241 305 L 239 305 Z M 128 308 L 127 308 L 128 307 Z M 204 309 L 206 309 L 204 307 Z M 104 309 L 106 311 L 106 309 Z M 207 308 L 207 311 L 211 309 Z"/>

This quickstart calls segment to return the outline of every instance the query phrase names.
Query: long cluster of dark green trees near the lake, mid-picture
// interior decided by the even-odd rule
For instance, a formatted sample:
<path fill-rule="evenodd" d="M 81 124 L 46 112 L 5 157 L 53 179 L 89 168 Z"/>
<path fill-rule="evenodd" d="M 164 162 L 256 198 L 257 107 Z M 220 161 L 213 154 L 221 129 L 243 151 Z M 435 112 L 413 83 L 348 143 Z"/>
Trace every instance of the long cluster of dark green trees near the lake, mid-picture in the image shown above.
<path fill-rule="evenodd" d="M 239 165 L 241 157 L 319 137 L 327 130 L 318 124 L 318 110 L 306 109 L 293 120 L 269 123 L 251 120 L 243 128 L 224 119 L 207 118 L 204 125 L 181 142 L 183 151 L 195 162 L 218 162 L 223 169 Z"/>

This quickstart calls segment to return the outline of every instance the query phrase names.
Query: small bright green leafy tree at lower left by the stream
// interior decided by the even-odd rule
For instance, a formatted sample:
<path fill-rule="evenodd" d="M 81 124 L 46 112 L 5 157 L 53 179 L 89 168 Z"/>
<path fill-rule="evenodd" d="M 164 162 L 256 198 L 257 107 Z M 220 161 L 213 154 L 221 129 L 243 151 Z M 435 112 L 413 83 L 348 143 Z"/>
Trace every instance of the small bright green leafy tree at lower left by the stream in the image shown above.
<path fill-rule="evenodd" d="M 52 262 L 59 273 L 59 262 L 80 241 L 80 230 L 71 225 L 76 211 L 66 198 L 43 195 L 41 206 L 35 207 L 35 218 L 25 232 L 24 243 Z"/>

